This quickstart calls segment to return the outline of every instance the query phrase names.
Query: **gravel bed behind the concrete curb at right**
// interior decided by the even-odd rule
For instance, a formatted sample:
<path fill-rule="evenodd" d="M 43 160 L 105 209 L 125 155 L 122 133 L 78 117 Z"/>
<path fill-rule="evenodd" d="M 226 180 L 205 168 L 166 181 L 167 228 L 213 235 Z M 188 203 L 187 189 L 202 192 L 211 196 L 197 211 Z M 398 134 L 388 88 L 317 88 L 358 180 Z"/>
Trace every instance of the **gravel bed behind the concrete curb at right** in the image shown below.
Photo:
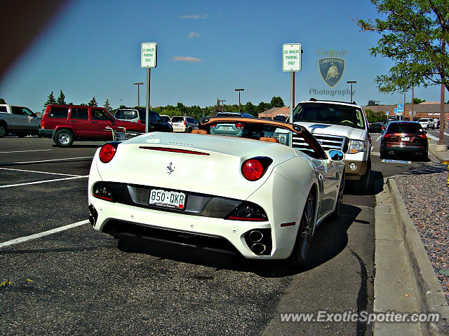
<path fill-rule="evenodd" d="M 395 181 L 449 302 L 448 172 L 399 176 Z"/>

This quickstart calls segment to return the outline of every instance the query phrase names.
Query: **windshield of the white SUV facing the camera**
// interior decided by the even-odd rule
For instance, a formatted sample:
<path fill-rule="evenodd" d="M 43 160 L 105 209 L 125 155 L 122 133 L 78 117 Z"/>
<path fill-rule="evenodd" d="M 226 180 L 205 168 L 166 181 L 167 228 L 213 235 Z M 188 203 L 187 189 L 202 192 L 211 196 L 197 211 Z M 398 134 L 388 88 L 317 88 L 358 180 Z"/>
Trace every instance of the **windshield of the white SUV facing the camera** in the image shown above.
<path fill-rule="evenodd" d="M 293 122 L 325 123 L 365 129 L 363 112 L 356 106 L 303 103 L 293 111 Z"/>

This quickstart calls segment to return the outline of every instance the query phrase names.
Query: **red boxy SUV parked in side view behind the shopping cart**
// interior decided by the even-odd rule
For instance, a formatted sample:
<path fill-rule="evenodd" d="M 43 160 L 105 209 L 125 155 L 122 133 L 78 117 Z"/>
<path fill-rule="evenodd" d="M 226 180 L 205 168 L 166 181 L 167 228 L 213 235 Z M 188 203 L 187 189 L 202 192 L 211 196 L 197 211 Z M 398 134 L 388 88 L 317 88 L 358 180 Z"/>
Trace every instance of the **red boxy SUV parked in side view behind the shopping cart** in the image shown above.
<path fill-rule="evenodd" d="M 72 145 L 74 140 L 92 141 L 112 139 L 111 130 L 145 133 L 145 125 L 116 120 L 106 109 L 96 106 L 48 105 L 41 118 L 39 134 L 55 141 L 60 147 Z"/>

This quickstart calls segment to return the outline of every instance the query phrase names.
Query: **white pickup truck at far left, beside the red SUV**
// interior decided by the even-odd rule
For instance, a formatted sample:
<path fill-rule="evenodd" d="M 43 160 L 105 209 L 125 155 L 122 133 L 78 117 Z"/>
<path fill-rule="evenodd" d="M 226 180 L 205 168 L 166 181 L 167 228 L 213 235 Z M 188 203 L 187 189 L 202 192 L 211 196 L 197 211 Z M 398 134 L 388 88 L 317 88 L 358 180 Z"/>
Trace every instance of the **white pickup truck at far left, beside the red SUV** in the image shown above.
<path fill-rule="evenodd" d="M 0 138 L 9 132 L 18 137 L 39 134 L 40 123 L 41 118 L 27 107 L 0 104 Z"/>

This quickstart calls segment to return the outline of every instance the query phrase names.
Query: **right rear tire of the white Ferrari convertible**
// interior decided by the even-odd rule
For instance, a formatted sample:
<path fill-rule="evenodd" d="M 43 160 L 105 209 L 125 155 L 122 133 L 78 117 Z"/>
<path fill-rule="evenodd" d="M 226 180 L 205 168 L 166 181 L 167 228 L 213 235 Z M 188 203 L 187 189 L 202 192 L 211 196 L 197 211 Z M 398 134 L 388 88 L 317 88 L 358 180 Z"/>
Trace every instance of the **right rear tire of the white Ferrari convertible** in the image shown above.
<path fill-rule="evenodd" d="M 289 268 L 299 269 L 307 259 L 312 235 L 314 234 L 315 207 L 315 197 L 312 193 L 309 193 L 304 204 L 304 211 L 302 211 L 295 246 L 293 247 L 292 254 L 286 260 L 286 266 Z"/>

